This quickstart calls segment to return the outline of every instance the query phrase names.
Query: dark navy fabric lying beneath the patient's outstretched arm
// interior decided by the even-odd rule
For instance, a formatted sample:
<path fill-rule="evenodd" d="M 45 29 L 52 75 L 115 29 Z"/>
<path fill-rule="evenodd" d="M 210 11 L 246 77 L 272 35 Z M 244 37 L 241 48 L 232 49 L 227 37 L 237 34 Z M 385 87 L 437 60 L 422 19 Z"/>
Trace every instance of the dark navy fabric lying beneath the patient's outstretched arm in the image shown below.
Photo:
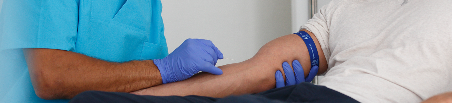
<path fill-rule="evenodd" d="M 69 103 L 359 103 L 325 86 L 301 83 L 259 94 L 212 98 L 202 96 L 140 96 L 128 93 L 86 91 Z"/>

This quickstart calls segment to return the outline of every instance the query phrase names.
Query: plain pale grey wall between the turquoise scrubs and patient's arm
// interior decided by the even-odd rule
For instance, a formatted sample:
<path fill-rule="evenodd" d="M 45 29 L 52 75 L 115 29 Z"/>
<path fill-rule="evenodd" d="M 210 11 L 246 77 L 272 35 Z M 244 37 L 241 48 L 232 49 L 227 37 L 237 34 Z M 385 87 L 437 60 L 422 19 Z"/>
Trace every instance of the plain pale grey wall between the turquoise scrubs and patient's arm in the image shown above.
<path fill-rule="evenodd" d="M 161 0 L 169 52 L 187 38 L 210 39 L 216 66 L 245 61 L 274 38 L 291 34 L 290 0 Z"/>

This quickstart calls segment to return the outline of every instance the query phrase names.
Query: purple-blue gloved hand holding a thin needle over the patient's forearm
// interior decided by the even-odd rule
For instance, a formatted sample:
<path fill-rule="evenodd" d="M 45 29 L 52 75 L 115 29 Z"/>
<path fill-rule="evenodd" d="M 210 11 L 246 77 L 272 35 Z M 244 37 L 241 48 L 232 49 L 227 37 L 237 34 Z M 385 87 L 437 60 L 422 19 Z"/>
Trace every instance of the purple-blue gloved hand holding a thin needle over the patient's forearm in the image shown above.
<path fill-rule="evenodd" d="M 160 70 L 163 84 L 190 78 L 199 71 L 221 75 L 223 71 L 215 67 L 223 54 L 210 40 L 187 39 L 170 55 L 155 59 L 154 64 Z"/>

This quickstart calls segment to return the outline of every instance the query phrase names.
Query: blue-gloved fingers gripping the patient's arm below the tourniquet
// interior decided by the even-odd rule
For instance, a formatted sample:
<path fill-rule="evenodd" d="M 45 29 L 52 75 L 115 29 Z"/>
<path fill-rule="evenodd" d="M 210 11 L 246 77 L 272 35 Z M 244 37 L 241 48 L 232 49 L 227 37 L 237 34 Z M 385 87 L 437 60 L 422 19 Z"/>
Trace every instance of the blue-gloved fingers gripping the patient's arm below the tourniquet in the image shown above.
<path fill-rule="evenodd" d="M 303 71 L 303 67 L 301 67 L 300 62 L 297 60 L 292 61 L 293 70 L 290 67 L 289 63 L 283 62 L 282 63 L 282 70 L 284 70 L 284 73 L 286 75 L 286 82 L 284 83 L 284 79 L 282 78 L 281 71 L 276 71 L 275 78 L 276 78 L 276 88 L 289 86 L 289 85 L 295 85 L 300 84 L 301 82 L 311 82 L 315 75 L 317 75 L 317 72 L 319 72 L 319 66 L 313 66 L 311 68 L 311 71 L 309 72 L 309 75 L 305 79 L 305 73 Z M 295 73 L 295 74 L 294 74 Z"/>

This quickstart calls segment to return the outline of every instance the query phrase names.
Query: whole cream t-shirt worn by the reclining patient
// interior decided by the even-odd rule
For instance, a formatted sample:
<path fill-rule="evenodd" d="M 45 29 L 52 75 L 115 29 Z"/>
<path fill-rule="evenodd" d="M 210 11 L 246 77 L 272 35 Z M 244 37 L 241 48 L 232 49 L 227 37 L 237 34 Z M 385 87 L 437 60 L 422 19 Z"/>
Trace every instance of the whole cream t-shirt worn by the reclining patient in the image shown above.
<path fill-rule="evenodd" d="M 315 34 L 325 85 L 362 103 L 419 103 L 452 91 L 452 0 L 333 0 Z"/>

